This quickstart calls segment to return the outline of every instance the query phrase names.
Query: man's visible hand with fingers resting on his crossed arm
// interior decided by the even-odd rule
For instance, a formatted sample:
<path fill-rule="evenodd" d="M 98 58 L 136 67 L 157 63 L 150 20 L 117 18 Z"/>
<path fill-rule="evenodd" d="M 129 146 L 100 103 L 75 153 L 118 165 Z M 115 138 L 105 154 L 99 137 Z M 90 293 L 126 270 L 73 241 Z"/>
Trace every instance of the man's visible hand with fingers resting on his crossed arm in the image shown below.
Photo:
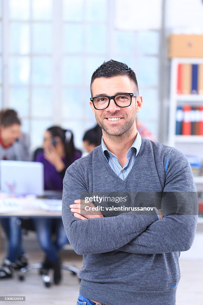
<path fill-rule="evenodd" d="M 85 207 L 86 207 L 86 210 L 85 210 Z M 95 208 L 96 206 L 91 201 L 89 201 L 88 203 L 85 203 L 84 200 L 78 199 L 78 200 L 74 201 L 74 204 L 70 205 L 70 208 L 71 208 L 70 210 L 71 210 L 71 212 L 74 212 L 73 216 L 75 216 L 81 220 L 87 220 L 89 218 L 104 217 L 101 211 L 95 211 L 95 210 L 89 209 L 89 207 Z"/>

